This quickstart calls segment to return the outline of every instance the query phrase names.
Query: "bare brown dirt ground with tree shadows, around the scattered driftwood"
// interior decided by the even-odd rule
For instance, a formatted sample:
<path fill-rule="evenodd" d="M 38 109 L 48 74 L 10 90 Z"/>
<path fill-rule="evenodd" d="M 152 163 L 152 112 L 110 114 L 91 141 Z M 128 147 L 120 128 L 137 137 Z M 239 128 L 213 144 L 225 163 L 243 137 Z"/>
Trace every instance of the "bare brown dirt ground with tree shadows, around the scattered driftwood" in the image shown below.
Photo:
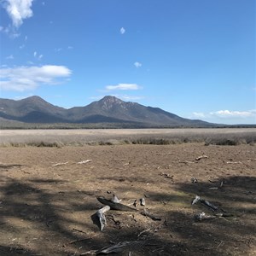
<path fill-rule="evenodd" d="M 1 147 L 0 255 L 96 255 L 123 241 L 131 243 L 115 255 L 256 255 L 255 151 L 204 143 Z M 101 231 L 96 196 L 112 194 L 146 205 L 108 211 Z M 192 206 L 195 195 L 218 210 Z M 215 218 L 196 221 L 201 212 Z"/>

